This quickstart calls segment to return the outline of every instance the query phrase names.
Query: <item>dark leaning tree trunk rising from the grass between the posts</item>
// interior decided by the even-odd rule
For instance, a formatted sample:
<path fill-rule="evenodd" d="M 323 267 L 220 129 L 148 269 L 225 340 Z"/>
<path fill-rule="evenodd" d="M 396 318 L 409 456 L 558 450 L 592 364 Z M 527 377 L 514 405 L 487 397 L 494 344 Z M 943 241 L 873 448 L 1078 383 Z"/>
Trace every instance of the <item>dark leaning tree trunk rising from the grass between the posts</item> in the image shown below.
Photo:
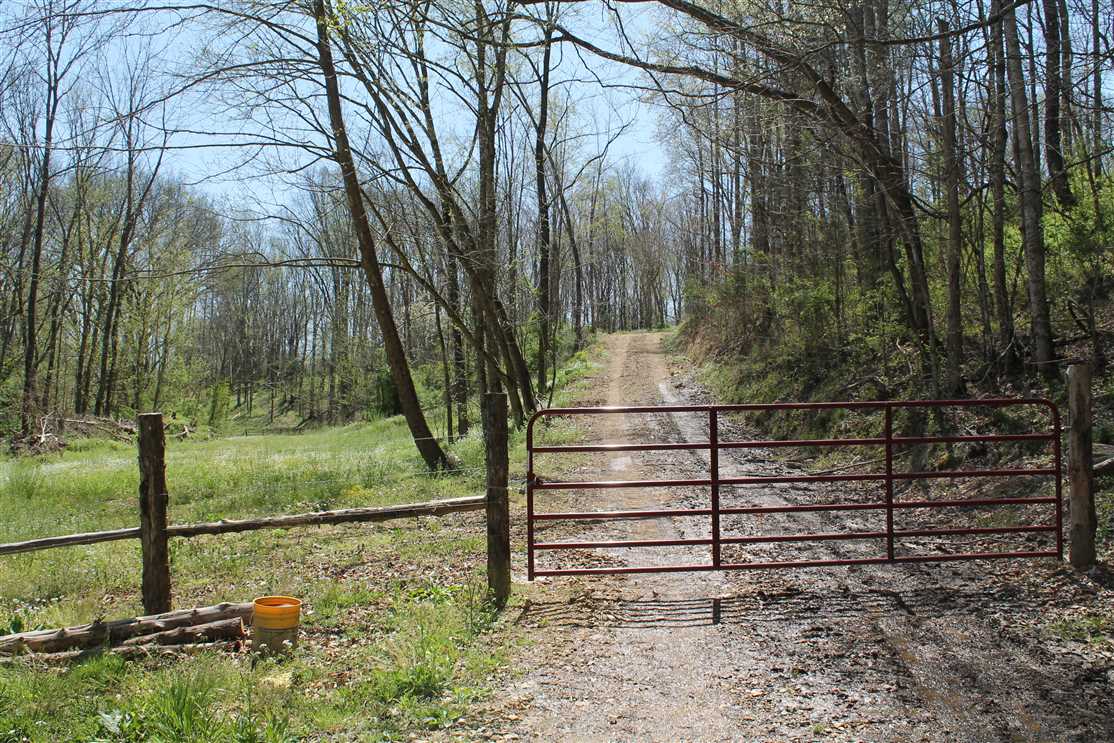
<path fill-rule="evenodd" d="M 341 168 L 344 182 L 344 195 L 348 197 L 349 213 L 355 228 L 356 242 L 360 247 L 360 263 L 371 290 L 372 307 L 379 321 L 379 331 L 383 336 L 383 351 L 387 364 L 391 370 L 391 379 L 399 393 L 399 404 L 402 414 L 410 427 L 414 444 L 426 465 L 431 470 L 449 468 L 449 459 L 441 449 L 440 442 L 433 438 L 433 432 L 426 422 L 413 378 L 410 375 L 410 364 L 407 362 L 399 329 L 394 323 L 387 286 L 379 256 L 375 253 L 375 239 L 371 234 L 368 212 L 363 204 L 363 193 L 356 178 L 355 164 L 349 146 L 348 131 L 344 128 L 344 116 L 341 109 L 340 85 L 336 79 L 336 67 L 333 63 L 333 52 L 329 38 L 329 18 L 325 13 L 324 0 L 315 0 L 313 14 L 317 26 L 317 62 L 325 84 L 325 99 L 329 104 L 329 120 L 333 129 L 333 159 Z"/>

